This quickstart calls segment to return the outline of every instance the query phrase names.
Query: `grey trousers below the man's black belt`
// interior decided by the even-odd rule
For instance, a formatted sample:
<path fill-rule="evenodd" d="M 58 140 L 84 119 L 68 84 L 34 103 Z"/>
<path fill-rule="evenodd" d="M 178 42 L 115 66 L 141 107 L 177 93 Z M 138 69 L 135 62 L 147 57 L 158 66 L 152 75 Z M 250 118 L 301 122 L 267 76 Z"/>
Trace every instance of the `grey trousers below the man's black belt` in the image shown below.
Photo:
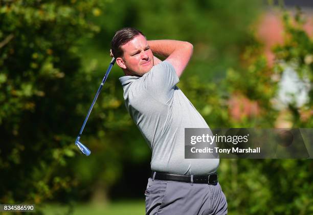
<path fill-rule="evenodd" d="M 227 214 L 227 200 L 219 183 L 191 184 L 148 179 L 146 215 Z"/>

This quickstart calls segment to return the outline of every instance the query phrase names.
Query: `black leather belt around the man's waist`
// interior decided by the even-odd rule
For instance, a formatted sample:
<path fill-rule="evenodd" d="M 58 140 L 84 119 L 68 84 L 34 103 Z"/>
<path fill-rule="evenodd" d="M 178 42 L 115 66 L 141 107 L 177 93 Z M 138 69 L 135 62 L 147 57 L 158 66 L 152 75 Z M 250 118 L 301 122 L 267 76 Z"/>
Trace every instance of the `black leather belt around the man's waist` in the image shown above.
<path fill-rule="evenodd" d="M 154 175 L 155 173 L 155 175 Z M 216 185 L 217 174 L 213 173 L 208 176 L 185 176 L 185 175 L 175 175 L 175 174 L 168 174 L 168 173 L 160 173 L 157 171 L 152 171 L 151 178 L 155 180 L 162 180 L 162 181 L 179 181 L 179 182 L 187 182 L 187 183 L 195 183 L 195 184 L 211 184 Z"/>

